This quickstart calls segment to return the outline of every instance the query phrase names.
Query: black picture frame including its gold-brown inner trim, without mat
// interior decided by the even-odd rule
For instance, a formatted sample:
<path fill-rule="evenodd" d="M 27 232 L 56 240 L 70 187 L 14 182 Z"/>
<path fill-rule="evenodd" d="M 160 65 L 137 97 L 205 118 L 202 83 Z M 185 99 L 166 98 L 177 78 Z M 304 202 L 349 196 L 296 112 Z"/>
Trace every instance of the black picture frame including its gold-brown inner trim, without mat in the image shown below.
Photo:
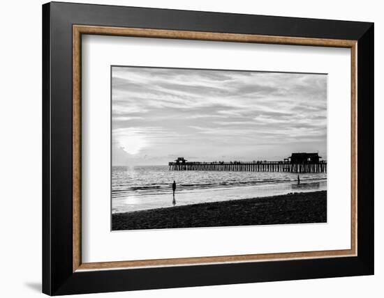
<path fill-rule="evenodd" d="M 349 48 L 350 249 L 82 262 L 82 35 Z M 43 5 L 45 294 L 369 274 L 374 274 L 373 23 L 59 2 Z"/>

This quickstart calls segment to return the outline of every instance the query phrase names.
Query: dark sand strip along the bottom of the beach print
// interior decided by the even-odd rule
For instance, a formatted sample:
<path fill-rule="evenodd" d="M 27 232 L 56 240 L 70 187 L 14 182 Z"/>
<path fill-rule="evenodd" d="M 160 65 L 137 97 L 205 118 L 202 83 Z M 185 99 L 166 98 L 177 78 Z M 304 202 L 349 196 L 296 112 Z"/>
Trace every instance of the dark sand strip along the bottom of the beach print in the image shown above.
<path fill-rule="evenodd" d="M 112 230 L 304 224 L 327 221 L 327 191 L 112 214 Z"/>

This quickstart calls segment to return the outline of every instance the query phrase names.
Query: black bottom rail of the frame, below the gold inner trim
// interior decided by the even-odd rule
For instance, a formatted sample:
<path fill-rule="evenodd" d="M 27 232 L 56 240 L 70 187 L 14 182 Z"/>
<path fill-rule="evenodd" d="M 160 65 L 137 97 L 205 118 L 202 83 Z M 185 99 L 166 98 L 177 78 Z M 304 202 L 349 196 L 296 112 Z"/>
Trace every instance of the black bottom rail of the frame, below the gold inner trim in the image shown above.
<path fill-rule="evenodd" d="M 336 258 L 337 259 L 337 258 Z M 338 262 L 336 264 L 336 262 Z M 272 264 L 271 264 L 272 263 Z M 334 272 L 330 272 L 338 266 Z M 294 272 L 295 269 L 299 272 Z M 127 290 L 154 290 L 205 285 L 225 285 L 297 279 L 370 275 L 358 258 L 288 260 L 260 263 L 201 265 L 151 269 L 126 269 L 73 274 L 54 295 L 74 295 Z"/>

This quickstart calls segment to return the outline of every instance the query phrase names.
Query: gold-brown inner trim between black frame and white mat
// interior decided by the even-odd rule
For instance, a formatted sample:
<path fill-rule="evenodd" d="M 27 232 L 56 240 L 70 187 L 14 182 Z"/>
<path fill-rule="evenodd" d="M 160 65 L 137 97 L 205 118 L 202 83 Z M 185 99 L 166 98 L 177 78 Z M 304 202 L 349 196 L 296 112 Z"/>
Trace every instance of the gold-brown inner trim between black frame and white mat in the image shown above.
<path fill-rule="evenodd" d="M 309 45 L 350 48 L 351 65 L 351 243 L 350 249 L 332 251 L 303 251 L 295 253 L 265 253 L 242 256 L 213 256 L 171 258 L 160 260 L 127 260 L 120 262 L 83 263 L 81 256 L 81 59 L 82 34 L 127 36 L 140 38 L 173 38 L 226 42 L 253 42 L 279 45 Z M 227 262 L 257 262 L 307 258 L 357 256 L 357 41 L 319 38 L 257 36 L 232 33 L 208 33 L 158 29 L 134 29 L 107 26 L 73 25 L 73 272 L 99 269 L 129 269 L 179 265 L 206 265 Z"/>

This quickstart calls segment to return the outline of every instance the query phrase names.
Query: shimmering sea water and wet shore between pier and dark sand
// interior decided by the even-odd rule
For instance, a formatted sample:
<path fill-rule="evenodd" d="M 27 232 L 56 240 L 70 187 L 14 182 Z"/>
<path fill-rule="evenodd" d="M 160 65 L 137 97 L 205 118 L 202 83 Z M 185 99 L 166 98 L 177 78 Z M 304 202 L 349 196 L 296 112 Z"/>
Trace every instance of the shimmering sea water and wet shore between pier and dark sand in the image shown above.
<path fill-rule="evenodd" d="M 113 166 L 112 213 L 327 189 L 326 173 L 169 171 L 168 166 Z"/>

